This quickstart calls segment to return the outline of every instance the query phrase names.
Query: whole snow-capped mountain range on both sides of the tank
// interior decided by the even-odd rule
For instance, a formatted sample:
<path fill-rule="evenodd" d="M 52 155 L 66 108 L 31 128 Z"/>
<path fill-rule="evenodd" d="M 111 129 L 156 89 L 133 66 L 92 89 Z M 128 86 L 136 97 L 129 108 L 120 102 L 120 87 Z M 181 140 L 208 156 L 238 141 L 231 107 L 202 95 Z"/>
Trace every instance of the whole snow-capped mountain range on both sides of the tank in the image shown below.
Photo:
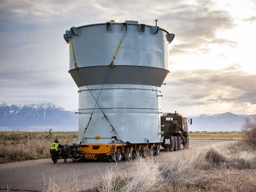
<path fill-rule="evenodd" d="M 230 132 L 241 131 L 245 118 L 256 115 L 236 115 L 232 113 L 202 114 L 189 116 L 193 124 L 188 131 Z M 78 131 L 78 115 L 51 103 L 40 104 L 0 104 L 0 131 Z"/>

